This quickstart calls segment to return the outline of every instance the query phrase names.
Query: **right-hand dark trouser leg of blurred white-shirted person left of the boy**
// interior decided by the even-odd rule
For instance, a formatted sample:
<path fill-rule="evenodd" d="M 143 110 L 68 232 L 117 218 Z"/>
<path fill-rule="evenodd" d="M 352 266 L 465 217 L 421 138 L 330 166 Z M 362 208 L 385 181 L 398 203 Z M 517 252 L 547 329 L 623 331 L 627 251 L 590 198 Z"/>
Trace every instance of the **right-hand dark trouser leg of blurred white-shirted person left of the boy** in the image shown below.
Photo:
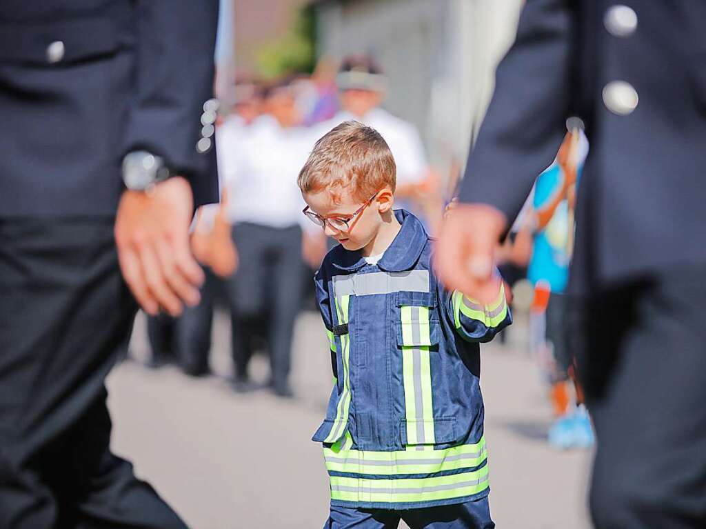
<path fill-rule="evenodd" d="M 279 230 L 279 254 L 273 268 L 273 305 L 270 318 L 270 362 L 273 387 L 276 393 L 288 396 L 287 379 L 292 358 L 294 323 L 301 308 L 301 274 L 304 261 L 301 257 L 301 229 Z"/>

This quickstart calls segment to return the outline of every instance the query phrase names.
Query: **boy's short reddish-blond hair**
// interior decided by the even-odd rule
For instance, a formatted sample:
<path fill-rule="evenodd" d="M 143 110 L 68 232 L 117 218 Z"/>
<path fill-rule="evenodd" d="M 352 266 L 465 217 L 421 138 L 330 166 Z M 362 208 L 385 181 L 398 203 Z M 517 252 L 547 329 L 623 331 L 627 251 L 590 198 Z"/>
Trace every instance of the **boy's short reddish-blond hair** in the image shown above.
<path fill-rule="evenodd" d="M 396 172 L 393 154 L 378 131 L 344 121 L 316 142 L 297 184 L 303 193 L 330 191 L 336 203 L 342 190 L 366 201 L 385 186 L 394 193 Z"/>

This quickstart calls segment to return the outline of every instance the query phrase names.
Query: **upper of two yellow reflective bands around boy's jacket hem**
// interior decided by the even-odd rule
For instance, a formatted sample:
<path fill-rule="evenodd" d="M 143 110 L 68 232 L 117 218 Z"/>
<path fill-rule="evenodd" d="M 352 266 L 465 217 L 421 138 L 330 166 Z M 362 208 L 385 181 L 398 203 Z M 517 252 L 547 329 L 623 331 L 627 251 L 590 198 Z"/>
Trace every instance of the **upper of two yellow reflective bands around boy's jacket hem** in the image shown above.
<path fill-rule="evenodd" d="M 340 444 L 341 441 L 331 448 L 324 448 L 326 470 L 330 472 L 373 475 L 434 474 L 446 470 L 475 468 L 488 457 L 483 438 L 476 444 L 453 446 L 444 450 L 424 446 L 421 450 L 371 452 L 340 448 Z M 352 441 L 345 441 L 344 444 L 351 446 Z"/>

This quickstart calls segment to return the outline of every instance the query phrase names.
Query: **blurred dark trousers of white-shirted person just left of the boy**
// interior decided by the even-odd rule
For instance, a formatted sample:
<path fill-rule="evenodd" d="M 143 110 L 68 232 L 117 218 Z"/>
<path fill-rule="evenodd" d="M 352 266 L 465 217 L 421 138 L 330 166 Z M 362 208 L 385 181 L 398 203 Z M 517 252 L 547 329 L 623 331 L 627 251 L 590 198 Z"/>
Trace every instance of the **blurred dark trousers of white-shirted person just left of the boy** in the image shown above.
<path fill-rule="evenodd" d="M 236 376 L 246 376 L 253 334 L 264 331 L 273 384 L 286 384 L 303 296 L 301 227 L 240 222 L 233 227 L 233 238 L 240 255 L 229 281 Z"/>

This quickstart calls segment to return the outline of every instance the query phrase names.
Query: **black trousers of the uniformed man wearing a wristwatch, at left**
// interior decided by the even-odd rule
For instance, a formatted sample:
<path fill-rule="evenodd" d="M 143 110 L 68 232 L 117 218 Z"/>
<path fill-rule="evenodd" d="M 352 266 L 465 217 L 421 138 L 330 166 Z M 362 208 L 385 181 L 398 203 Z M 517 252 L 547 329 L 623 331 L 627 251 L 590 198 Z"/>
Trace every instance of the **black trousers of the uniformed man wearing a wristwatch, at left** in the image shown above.
<path fill-rule="evenodd" d="M 109 450 L 135 313 L 111 218 L 0 219 L 0 528 L 185 528 Z"/>

